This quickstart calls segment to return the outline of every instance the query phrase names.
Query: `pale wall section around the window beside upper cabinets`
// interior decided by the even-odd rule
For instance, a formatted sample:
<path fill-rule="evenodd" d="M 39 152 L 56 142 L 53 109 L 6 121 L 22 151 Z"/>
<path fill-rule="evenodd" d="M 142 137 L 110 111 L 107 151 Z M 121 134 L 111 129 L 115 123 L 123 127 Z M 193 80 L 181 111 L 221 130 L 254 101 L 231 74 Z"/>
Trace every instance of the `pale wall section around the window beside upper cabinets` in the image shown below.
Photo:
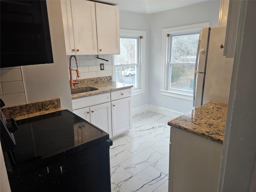
<path fill-rule="evenodd" d="M 148 14 L 120 11 L 120 29 L 146 31 L 146 90 L 144 94 L 132 96 L 132 108 L 148 104 L 148 73 L 149 73 L 149 40 L 150 40 L 150 20 Z"/>

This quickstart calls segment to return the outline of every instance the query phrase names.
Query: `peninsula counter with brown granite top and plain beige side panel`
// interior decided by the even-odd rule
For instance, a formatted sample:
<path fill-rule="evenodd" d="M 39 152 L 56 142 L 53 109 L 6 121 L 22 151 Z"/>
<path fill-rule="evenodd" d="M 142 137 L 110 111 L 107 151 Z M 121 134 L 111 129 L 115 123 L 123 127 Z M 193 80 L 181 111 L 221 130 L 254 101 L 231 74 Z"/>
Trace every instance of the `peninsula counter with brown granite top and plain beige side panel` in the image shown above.
<path fill-rule="evenodd" d="M 217 191 L 226 113 L 208 102 L 168 122 L 169 192 Z"/>

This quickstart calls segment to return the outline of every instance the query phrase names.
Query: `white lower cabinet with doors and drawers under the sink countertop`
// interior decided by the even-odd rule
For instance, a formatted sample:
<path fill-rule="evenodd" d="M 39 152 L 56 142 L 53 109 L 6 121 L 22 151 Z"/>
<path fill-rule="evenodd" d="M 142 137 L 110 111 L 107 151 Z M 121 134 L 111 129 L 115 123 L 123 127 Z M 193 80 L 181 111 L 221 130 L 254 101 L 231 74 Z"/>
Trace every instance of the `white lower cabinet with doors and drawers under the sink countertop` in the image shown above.
<path fill-rule="evenodd" d="M 117 136 L 132 128 L 131 93 L 129 88 L 73 99 L 73 112 L 110 137 Z"/>

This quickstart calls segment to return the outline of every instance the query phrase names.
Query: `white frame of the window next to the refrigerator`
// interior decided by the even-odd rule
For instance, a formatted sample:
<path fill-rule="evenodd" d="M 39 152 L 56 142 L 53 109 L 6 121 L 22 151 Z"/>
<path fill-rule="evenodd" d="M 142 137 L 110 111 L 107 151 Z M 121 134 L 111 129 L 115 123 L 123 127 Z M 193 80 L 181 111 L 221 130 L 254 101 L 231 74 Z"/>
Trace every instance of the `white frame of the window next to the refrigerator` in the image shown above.
<path fill-rule="evenodd" d="M 200 31 L 204 27 L 209 27 L 209 22 L 200 23 L 200 24 L 193 24 L 193 25 L 186 25 L 186 26 L 179 26 L 179 27 L 172 27 L 166 28 L 162 30 L 162 76 L 161 76 L 161 86 L 160 86 L 160 94 L 164 96 L 170 96 L 174 98 L 180 98 L 185 100 L 193 100 L 193 95 L 182 92 L 180 90 L 170 90 L 168 88 L 169 84 L 169 71 L 170 71 L 170 41 L 169 35 L 174 34 L 184 34 L 189 32 Z"/>

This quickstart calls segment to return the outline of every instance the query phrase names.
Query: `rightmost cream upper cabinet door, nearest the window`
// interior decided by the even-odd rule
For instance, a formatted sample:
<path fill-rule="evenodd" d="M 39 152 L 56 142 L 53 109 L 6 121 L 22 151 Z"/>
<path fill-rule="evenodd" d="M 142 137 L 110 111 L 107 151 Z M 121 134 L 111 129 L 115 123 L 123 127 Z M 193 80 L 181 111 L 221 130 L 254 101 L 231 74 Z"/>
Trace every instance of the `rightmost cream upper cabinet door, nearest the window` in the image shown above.
<path fill-rule="evenodd" d="M 95 8 L 98 54 L 120 54 L 118 7 L 95 2 Z"/>

